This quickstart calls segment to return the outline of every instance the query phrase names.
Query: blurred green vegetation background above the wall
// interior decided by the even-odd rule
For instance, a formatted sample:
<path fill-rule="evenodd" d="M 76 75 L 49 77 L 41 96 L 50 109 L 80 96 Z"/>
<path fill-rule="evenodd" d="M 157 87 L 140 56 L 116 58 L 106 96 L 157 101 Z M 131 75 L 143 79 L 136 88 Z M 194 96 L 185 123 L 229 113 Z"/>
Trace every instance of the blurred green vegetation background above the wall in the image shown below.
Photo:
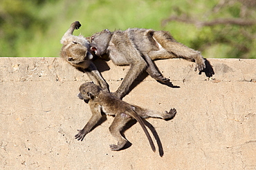
<path fill-rule="evenodd" d="M 60 56 L 60 39 L 104 29 L 152 28 L 205 58 L 256 59 L 255 0 L 1 0 L 0 56 Z"/>

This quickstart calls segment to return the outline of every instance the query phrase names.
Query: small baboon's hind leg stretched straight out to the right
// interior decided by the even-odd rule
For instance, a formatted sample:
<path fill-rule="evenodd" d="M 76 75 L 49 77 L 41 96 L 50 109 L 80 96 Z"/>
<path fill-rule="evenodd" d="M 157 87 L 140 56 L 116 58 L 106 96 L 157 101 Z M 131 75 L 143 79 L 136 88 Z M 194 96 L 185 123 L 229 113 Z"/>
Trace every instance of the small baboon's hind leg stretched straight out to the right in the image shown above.
<path fill-rule="evenodd" d="M 154 111 L 154 110 L 149 110 L 149 109 L 143 109 L 137 105 L 134 106 L 134 111 L 138 113 L 138 115 L 142 118 L 162 118 L 164 120 L 169 120 L 171 118 L 174 118 L 176 114 L 176 109 L 170 109 L 170 111 L 165 111 L 165 112 L 159 112 L 159 111 Z"/>

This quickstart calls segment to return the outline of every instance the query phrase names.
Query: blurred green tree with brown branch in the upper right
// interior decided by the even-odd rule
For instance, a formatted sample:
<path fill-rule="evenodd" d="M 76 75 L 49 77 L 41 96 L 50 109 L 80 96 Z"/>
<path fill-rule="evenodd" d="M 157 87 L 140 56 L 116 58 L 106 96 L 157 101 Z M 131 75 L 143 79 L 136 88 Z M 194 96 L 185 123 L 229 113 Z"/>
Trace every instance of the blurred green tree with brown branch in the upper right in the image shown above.
<path fill-rule="evenodd" d="M 162 25 L 171 21 L 195 25 L 201 31 L 192 40 L 191 46 L 202 51 L 205 56 L 256 58 L 255 9 L 255 0 L 220 0 L 212 10 L 201 14 L 201 17 L 191 17 L 192 14 L 176 8 L 176 14 L 164 19 Z M 202 18 L 206 21 L 201 21 Z M 226 54 L 214 50 L 221 50 Z"/>

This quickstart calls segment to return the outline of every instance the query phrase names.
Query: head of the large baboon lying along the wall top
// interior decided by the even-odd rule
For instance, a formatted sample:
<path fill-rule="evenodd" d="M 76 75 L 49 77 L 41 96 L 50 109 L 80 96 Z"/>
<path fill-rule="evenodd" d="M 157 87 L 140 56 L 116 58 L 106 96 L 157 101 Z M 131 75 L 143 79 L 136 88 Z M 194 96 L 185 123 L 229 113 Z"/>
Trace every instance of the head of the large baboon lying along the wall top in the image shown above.
<path fill-rule="evenodd" d="M 107 52 L 107 47 L 111 39 L 111 32 L 109 30 L 103 30 L 91 36 L 91 51 L 95 52 L 97 56 Z"/>

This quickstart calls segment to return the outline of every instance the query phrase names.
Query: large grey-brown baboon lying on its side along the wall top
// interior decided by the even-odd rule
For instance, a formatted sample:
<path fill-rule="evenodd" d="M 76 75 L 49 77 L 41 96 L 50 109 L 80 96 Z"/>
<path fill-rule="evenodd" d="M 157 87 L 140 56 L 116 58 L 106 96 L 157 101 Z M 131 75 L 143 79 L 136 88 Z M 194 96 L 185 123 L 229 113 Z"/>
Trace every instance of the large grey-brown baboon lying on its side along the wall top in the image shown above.
<path fill-rule="evenodd" d="M 122 98 L 137 76 L 146 72 L 157 81 L 170 81 L 156 69 L 152 60 L 182 58 L 196 63 L 195 71 L 205 68 L 200 52 L 177 42 L 169 32 L 129 28 L 125 31 L 103 30 L 91 36 L 91 51 L 109 55 L 116 65 L 130 65 L 124 80 L 113 96 Z"/>

